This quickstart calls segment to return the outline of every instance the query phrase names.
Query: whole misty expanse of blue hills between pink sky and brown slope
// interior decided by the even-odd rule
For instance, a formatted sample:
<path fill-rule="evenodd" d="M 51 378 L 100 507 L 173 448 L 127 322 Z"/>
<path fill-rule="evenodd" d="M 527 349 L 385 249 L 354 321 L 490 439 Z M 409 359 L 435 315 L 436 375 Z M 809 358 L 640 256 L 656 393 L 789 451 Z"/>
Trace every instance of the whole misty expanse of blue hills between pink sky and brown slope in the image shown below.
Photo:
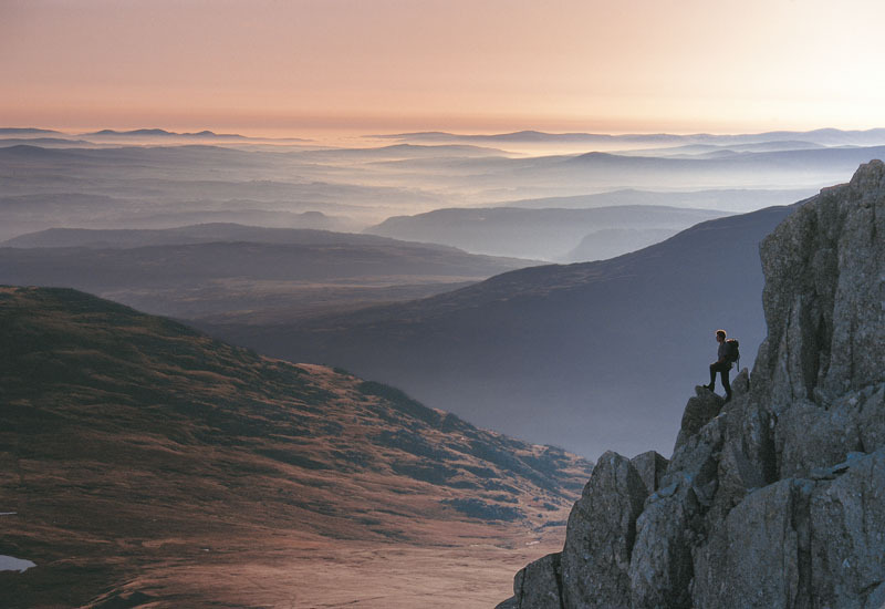
<path fill-rule="evenodd" d="M 665 448 L 710 328 L 750 354 L 764 337 L 759 240 L 885 144 L 881 130 L 0 136 L 0 282 L 343 367 L 589 457 Z"/>

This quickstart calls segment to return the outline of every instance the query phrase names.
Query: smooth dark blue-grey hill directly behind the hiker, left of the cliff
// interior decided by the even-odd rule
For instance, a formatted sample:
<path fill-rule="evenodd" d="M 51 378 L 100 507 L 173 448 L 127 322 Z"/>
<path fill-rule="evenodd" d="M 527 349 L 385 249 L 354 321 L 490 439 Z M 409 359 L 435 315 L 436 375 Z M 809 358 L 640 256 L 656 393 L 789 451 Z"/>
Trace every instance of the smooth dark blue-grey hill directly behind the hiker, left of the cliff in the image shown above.
<path fill-rule="evenodd" d="M 678 401 L 715 359 L 715 331 L 739 338 L 750 359 L 764 338 L 759 242 L 793 209 L 709 220 L 618 258 L 521 269 L 354 314 L 205 328 L 584 455 L 663 452 Z"/>

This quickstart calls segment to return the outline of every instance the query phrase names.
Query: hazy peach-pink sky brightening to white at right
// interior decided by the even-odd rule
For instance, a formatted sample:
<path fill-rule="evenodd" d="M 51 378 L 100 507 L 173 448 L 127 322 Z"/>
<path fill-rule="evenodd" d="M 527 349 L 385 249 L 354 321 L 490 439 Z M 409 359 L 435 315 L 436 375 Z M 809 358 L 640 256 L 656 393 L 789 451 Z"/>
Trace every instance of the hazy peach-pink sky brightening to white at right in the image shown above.
<path fill-rule="evenodd" d="M 0 0 L 0 126 L 885 126 L 881 0 Z"/>

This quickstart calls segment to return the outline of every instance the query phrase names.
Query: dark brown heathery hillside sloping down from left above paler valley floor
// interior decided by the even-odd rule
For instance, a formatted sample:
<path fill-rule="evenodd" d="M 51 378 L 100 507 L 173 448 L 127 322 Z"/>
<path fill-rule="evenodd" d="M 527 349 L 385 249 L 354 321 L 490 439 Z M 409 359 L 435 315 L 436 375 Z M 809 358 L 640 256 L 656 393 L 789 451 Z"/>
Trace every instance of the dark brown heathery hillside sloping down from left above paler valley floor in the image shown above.
<path fill-rule="evenodd" d="M 2 606 L 283 541 L 512 539 L 561 520 L 590 471 L 73 290 L 0 289 L 0 555 L 38 565 L 0 572 Z"/>

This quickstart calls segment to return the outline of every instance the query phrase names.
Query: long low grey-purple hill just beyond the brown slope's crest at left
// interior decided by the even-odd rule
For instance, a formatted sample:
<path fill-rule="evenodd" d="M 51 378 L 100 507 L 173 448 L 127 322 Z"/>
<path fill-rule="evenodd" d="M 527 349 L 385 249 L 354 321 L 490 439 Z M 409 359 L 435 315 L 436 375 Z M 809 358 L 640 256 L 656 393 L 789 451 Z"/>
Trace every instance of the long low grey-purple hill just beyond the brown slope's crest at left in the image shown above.
<path fill-rule="evenodd" d="M 51 229 L 0 244 L 0 282 L 71 287 L 184 319 L 285 321 L 449 291 L 530 260 L 324 230 Z"/>

